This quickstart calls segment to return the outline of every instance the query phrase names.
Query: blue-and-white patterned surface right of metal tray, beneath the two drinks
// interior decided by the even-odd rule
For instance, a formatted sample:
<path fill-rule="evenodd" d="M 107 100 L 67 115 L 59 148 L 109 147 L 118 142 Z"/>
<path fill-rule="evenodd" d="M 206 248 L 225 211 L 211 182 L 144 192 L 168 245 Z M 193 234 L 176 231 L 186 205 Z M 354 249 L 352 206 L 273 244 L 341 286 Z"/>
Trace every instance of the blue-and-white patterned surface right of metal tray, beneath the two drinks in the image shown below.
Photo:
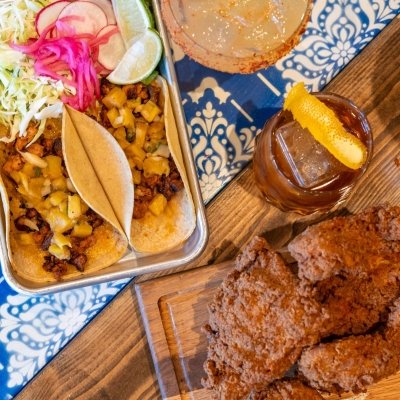
<path fill-rule="evenodd" d="M 204 201 L 250 161 L 255 135 L 295 82 L 322 89 L 399 11 L 399 0 L 317 0 L 300 44 L 276 65 L 250 75 L 204 68 L 175 46 Z"/>

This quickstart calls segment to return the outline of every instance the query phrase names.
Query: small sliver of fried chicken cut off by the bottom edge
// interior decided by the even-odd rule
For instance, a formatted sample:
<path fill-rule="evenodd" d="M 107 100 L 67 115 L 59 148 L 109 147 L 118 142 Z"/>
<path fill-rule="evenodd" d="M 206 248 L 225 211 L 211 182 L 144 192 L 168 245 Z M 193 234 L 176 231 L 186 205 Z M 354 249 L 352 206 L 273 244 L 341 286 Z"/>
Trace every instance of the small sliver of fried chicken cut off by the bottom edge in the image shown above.
<path fill-rule="evenodd" d="M 297 379 L 282 379 L 261 392 L 252 393 L 249 400 L 323 400 L 323 397 Z"/>

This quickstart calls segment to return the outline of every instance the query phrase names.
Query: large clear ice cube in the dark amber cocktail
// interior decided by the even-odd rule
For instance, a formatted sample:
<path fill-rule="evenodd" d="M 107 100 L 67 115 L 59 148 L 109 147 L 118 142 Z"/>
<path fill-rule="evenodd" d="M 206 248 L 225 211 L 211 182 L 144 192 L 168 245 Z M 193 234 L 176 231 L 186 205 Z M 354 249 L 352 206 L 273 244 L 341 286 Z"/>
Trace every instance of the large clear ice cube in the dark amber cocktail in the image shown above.
<path fill-rule="evenodd" d="M 317 142 L 297 121 L 282 125 L 276 138 L 297 184 L 305 189 L 321 189 L 339 178 L 348 168 Z"/>

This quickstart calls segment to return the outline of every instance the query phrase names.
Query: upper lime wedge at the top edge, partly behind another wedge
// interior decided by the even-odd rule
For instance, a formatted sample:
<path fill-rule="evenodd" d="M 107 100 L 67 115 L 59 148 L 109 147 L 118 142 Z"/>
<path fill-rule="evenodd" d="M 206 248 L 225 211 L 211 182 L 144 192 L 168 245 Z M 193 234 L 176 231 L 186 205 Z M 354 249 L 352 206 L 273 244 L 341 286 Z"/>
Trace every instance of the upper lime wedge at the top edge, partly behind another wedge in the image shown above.
<path fill-rule="evenodd" d="M 137 36 L 154 27 L 154 19 L 143 0 L 112 0 L 112 5 L 126 48 Z"/>

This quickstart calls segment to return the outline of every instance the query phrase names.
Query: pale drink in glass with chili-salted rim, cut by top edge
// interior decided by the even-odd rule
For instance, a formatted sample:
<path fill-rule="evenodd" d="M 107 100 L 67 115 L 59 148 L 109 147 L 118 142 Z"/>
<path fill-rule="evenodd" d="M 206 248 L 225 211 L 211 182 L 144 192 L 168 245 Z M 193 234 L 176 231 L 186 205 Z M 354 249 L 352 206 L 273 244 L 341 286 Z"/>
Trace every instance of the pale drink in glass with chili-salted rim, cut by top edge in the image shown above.
<path fill-rule="evenodd" d="M 312 0 L 161 0 L 173 40 L 197 62 L 251 73 L 275 63 L 300 40 Z"/>

